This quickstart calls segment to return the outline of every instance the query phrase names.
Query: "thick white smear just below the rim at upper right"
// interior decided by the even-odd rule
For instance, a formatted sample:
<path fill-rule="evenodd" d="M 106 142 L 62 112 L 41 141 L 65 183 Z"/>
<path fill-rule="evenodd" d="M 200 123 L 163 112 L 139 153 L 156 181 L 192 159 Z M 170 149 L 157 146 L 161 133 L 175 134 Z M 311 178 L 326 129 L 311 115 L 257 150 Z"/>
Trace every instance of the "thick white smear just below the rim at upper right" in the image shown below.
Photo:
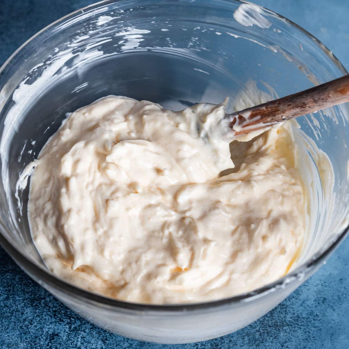
<path fill-rule="evenodd" d="M 244 27 L 255 24 L 260 28 L 269 28 L 272 22 L 263 16 L 265 14 L 259 6 L 252 3 L 243 3 L 235 10 L 233 17 Z"/>

